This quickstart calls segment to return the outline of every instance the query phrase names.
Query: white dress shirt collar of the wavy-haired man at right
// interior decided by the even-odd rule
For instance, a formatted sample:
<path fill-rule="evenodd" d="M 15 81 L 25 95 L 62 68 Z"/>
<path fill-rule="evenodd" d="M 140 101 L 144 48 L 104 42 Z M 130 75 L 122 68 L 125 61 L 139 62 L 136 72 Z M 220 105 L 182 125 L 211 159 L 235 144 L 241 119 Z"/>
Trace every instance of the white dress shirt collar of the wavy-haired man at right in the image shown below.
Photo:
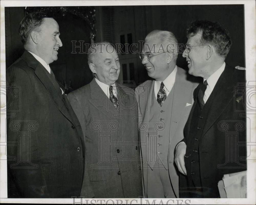
<path fill-rule="evenodd" d="M 210 97 L 211 92 L 213 91 L 217 81 L 219 80 L 220 75 L 222 74 L 222 72 L 224 71 L 224 68 L 226 66 L 226 63 L 224 62 L 223 65 L 216 70 L 208 79 L 207 79 L 207 87 L 205 90 L 205 94 L 204 94 L 204 102 L 206 103 L 206 101 L 208 100 L 208 98 Z M 206 79 L 204 78 L 204 81 Z"/>

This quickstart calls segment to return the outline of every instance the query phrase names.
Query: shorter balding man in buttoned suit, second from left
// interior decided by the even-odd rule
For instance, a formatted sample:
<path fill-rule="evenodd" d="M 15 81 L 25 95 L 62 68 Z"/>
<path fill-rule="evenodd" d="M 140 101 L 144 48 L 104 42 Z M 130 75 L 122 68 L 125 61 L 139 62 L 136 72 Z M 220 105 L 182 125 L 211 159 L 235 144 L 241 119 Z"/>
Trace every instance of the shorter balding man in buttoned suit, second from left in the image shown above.
<path fill-rule="evenodd" d="M 109 42 L 91 45 L 88 64 L 93 80 L 69 93 L 68 99 L 84 133 L 95 197 L 140 197 L 142 176 L 134 90 L 115 83 L 120 63 Z"/>

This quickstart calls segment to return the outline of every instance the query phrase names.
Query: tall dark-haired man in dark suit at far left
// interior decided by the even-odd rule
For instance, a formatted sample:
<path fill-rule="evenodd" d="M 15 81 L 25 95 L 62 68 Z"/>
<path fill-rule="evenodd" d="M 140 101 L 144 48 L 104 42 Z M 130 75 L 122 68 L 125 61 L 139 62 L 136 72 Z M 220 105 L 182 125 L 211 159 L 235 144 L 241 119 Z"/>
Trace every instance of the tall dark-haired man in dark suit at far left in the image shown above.
<path fill-rule="evenodd" d="M 7 86 L 20 91 L 7 96 L 8 197 L 80 196 L 88 177 L 82 129 L 49 67 L 62 46 L 58 23 L 35 12 L 19 32 L 25 52 L 6 70 Z"/>

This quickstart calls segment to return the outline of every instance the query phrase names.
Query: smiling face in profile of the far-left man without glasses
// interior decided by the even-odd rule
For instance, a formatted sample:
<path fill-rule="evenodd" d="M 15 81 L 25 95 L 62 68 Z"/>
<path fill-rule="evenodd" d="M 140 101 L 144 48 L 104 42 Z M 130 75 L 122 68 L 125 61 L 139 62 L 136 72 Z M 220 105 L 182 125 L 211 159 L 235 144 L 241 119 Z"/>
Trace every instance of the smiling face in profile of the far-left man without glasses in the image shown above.
<path fill-rule="evenodd" d="M 45 18 L 40 30 L 36 49 L 39 57 L 50 64 L 58 59 L 58 50 L 62 46 L 59 25 L 54 19 Z"/>

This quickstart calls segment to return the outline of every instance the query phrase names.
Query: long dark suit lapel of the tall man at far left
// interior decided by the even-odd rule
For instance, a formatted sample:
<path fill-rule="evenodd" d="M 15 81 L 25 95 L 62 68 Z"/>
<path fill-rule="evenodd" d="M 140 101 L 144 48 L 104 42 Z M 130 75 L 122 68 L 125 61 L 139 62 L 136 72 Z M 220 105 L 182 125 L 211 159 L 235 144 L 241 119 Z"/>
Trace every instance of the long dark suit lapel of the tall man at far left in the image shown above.
<path fill-rule="evenodd" d="M 42 66 L 41 63 L 39 63 L 33 55 L 31 55 L 29 52 L 25 51 L 22 55 L 22 58 L 26 61 L 29 67 L 33 68 L 35 70 L 36 76 L 39 78 L 39 80 L 42 82 L 42 84 L 45 86 L 46 90 L 49 92 L 52 100 L 60 110 L 60 112 L 70 121 L 72 122 L 72 119 L 70 118 L 69 112 L 66 109 L 62 97 L 58 94 L 57 90 L 55 89 L 54 85 L 52 84 L 51 80 L 47 76 L 45 72 L 47 70 L 44 66 Z"/>

